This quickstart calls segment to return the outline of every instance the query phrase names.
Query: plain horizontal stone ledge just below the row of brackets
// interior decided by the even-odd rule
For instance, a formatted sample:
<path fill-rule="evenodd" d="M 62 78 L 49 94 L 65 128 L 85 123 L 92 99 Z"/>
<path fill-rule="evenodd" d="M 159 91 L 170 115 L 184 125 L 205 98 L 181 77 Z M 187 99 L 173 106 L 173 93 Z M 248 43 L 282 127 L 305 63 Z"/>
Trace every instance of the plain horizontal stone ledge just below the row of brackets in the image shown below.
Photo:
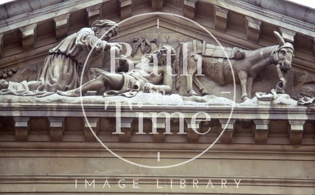
<path fill-rule="evenodd" d="M 126 142 L 122 144 L 121 142 L 108 142 L 106 143 L 108 148 L 113 151 L 182 151 L 182 152 L 198 152 L 200 153 L 206 147 L 209 146 L 209 143 L 156 143 L 156 142 L 145 142 L 139 144 L 139 142 Z M 33 150 L 34 148 L 42 151 L 53 151 L 60 150 L 60 151 L 95 151 L 95 152 L 104 152 L 104 148 L 98 142 L 86 142 L 86 141 L 71 141 L 71 142 L 12 142 L 12 141 L 1 141 L 0 142 L 1 150 L 15 150 L 15 151 L 28 151 Z M 40 149 L 39 149 L 40 148 Z M 52 150 L 53 149 L 53 150 Z M 127 150 L 126 150 L 127 149 Z M 247 143 L 230 143 L 230 144 L 223 144 L 217 143 L 215 144 L 209 151 L 214 153 L 221 153 L 221 152 L 258 152 L 261 153 L 280 153 L 280 154 L 314 154 L 315 152 L 315 145 L 300 145 L 299 147 L 292 147 L 290 144 L 247 144 Z M 4 155 L 4 154 L 3 154 Z M 43 154 L 44 155 L 44 154 Z M 207 155 L 207 154 L 205 154 Z M 312 158 L 315 157 L 314 155 Z M 156 158 L 156 155 L 155 155 Z M 202 156 L 200 157 L 202 158 Z M 269 158 L 273 159 L 273 156 L 269 156 Z M 312 160 L 312 159 L 308 159 Z"/>

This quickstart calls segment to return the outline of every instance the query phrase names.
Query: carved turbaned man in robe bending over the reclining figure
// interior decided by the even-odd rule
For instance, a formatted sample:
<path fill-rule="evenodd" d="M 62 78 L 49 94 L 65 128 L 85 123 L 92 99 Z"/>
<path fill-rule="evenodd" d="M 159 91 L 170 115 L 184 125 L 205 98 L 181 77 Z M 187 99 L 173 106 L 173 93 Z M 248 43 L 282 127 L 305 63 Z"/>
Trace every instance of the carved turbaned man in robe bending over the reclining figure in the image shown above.
<path fill-rule="evenodd" d="M 107 33 L 104 34 L 105 32 Z M 84 65 L 93 47 L 86 69 L 100 66 L 105 50 L 113 46 L 119 49 L 117 52 L 122 50 L 120 44 L 107 42 L 111 37 L 116 36 L 117 32 L 118 26 L 115 22 L 96 20 L 91 28 L 83 28 L 64 38 L 55 48 L 49 50 L 43 68 L 37 75 L 36 80 L 40 83 L 37 91 L 56 92 L 76 89 L 80 81 L 79 69 Z"/>

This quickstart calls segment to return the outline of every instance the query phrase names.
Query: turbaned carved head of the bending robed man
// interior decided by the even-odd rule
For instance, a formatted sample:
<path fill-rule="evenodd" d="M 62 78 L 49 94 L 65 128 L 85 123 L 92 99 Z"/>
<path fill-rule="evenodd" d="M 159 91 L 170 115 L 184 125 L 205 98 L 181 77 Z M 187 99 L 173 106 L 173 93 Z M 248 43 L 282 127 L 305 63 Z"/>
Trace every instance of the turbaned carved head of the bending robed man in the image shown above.
<path fill-rule="evenodd" d="M 108 41 L 111 37 L 116 36 L 118 33 L 118 25 L 116 22 L 110 20 L 96 20 L 92 26 L 92 30 L 95 32 L 95 36 L 100 38 L 105 32 L 111 29 L 111 31 L 104 34 L 102 40 Z"/>

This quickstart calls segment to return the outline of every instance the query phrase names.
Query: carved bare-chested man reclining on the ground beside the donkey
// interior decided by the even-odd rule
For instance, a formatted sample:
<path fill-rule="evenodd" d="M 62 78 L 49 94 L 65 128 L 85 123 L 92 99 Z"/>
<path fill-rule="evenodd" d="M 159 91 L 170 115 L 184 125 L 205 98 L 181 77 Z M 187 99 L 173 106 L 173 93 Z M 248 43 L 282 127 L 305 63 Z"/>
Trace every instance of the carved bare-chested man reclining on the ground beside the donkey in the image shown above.
<path fill-rule="evenodd" d="M 102 72 L 94 80 L 82 85 L 82 94 L 88 91 L 97 91 L 98 95 L 133 97 L 140 90 L 145 93 L 155 90 L 170 94 L 173 80 L 172 67 L 167 64 L 167 54 L 171 54 L 169 58 L 171 58 L 172 65 L 175 61 L 175 50 L 171 46 L 165 45 L 153 52 L 149 58 L 134 62 L 136 64 L 134 69 L 129 72 Z M 154 65 L 154 59 L 157 59 L 157 65 Z M 66 92 L 57 91 L 57 94 L 79 97 L 80 87 Z"/>

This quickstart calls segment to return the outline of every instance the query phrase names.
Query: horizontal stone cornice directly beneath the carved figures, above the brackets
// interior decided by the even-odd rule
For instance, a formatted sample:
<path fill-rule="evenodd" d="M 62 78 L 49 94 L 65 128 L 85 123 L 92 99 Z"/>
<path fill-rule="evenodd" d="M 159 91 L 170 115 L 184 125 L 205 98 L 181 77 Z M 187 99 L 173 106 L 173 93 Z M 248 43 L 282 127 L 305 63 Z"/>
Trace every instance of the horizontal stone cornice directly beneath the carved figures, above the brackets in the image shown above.
<path fill-rule="evenodd" d="M 111 117 L 115 116 L 116 105 L 108 105 L 106 110 L 103 104 L 85 104 L 84 110 L 87 117 Z M 207 112 L 211 118 L 227 119 L 231 112 L 229 106 L 161 106 L 144 105 L 141 108 L 121 105 L 122 117 L 130 117 L 134 112 L 143 112 L 144 117 L 151 117 L 152 112 L 182 112 L 185 117 L 192 117 L 197 112 Z M 80 104 L 58 103 L 0 103 L 0 116 L 25 116 L 25 117 L 83 117 Z M 175 115 L 176 117 L 177 115 Z M 164 117 L 164 116 L 159 116 Z M 237 106 L 234 107 L 232 119 L 270 119 L 270 120 L 315 120 L 314 106 Z"/>

